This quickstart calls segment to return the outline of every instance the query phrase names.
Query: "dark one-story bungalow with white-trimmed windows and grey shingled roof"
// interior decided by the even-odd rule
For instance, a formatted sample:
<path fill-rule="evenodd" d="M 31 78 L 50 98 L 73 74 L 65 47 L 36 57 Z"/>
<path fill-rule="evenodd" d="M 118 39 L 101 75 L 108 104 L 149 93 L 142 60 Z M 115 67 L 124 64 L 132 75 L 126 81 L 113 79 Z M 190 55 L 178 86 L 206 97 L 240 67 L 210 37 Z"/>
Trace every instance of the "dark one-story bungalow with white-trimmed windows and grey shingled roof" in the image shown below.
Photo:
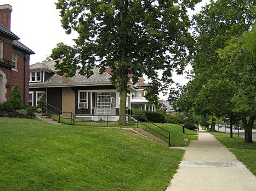
<path fill-rule="evenodd" d="M 55 73 L 54 64 L 50 61 L 30 66 L 30 105 L 37 106 L 46 92 L 48 104 L 62 112 L 72 112 L 76 117 L 92 119 L 92 115 L 119 114 L 120 95 L 110 82 L 109 70 L 100 74 L 95 67 L 89 78 L 78 71 L 75 76 L 66 77 Z M 136 88 L 129 82 L 127 109 L 131 109 L 132 94 L 139 92 Z M 54 108 L 52 110 L 58 113 Z"/>

